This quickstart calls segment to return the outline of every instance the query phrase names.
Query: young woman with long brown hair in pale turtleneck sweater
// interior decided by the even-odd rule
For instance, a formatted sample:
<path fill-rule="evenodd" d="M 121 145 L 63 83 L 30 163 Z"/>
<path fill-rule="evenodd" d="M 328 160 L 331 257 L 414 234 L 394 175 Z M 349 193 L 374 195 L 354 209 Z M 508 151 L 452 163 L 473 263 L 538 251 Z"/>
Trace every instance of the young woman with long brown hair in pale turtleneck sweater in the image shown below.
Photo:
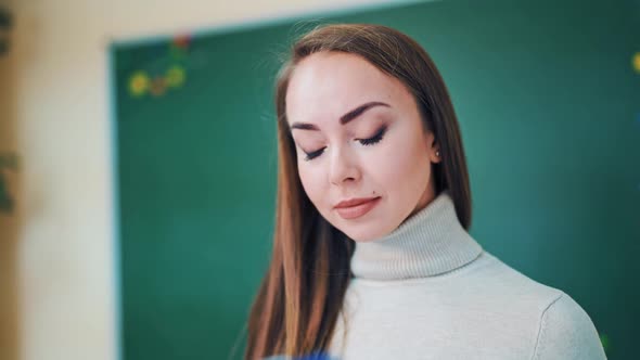
<path fill-rule="evenodd" d="M 458 120 L 415 41 L 317 28 L 294 44 L 276 103 L 273 253 L 246 359 L 605 359 L 578 304 L 468 233 Z"/>

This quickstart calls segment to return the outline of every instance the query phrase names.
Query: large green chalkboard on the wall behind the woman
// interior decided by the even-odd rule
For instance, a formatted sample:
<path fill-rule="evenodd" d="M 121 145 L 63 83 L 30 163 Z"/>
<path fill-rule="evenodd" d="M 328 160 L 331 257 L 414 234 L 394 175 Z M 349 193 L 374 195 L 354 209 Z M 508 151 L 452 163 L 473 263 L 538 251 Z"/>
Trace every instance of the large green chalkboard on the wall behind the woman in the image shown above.
<path fill-rule="evenodd" d="M 610 359 L 630 359 L 640 320 L 638 1 L 321 15 L 388 25 L 424 46 L 460 120 L 472 235 L 574 297 Z M 272 83 L 306 27 L 292 18 L 111 47 L 124 359 L 241 357 L 271 249 Z"/>

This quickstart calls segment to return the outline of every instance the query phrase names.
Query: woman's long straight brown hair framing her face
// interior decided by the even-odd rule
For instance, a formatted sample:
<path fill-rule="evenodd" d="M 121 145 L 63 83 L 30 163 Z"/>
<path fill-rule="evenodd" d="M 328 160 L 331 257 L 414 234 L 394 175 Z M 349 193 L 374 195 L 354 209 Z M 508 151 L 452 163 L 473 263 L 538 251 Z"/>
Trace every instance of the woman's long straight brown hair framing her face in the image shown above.
<path fill-rule="evenodd" d="M 448 189 L 460 223 L 468 230 L 471 226 L 471 190 L 458 120 L 445 82 L 424 49 L 407 35 L 380 25 L 324 25 L 307 33 L 294 43 L 276 87 L 279 164 L 273 250 L 248 319 L 248 360 L 327 350 L 351 278 L 354 241 L 324 220 L 305 194 L 286 121 L 286 89 L 296 64 L 322 51 L 362 56 L 415 97 L 424 128 L 439 144 L 441 162 L 432 165 L 436 193 Z"/>

